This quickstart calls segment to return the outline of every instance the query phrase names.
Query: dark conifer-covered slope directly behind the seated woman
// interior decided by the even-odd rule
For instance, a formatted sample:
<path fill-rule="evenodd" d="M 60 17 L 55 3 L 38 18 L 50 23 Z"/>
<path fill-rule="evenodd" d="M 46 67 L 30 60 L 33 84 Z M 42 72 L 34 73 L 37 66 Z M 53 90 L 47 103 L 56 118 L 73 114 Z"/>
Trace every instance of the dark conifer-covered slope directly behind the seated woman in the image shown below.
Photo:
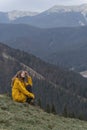
<path fill-rule="evenodd" d="M 21 69 L 32 76 L 36 103 L 45 111 L 87 120 L 87 79 L 0 43 L 0 93 L 11 95 L 11 79 Z"/>

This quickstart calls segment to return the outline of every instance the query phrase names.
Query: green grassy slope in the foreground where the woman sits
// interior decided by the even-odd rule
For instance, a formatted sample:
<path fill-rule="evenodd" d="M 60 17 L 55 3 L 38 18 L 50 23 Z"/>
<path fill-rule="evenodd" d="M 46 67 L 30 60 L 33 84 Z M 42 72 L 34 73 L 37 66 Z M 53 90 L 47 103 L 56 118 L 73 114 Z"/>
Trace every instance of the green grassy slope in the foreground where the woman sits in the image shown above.
<path fill-rule="evenodd" d="M 0 95 L 0 130 L 87 130 L 87 122 L 48 114 Z"/>

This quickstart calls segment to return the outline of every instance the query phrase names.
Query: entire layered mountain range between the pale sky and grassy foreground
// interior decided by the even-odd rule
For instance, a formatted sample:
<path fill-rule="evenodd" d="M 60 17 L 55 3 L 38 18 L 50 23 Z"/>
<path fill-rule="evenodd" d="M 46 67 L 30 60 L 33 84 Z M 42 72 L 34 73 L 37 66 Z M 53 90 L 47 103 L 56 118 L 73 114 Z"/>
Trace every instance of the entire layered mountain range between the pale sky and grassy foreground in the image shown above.
<path fill-rule="evenodd" d="M 87 5 L 0 12 L 0 93 L 11 96 L 12 77 L 27 70 L 37 105 L 87 120 L 87 78 L 79 74 L 87 70 L 86 25 Z"/>

